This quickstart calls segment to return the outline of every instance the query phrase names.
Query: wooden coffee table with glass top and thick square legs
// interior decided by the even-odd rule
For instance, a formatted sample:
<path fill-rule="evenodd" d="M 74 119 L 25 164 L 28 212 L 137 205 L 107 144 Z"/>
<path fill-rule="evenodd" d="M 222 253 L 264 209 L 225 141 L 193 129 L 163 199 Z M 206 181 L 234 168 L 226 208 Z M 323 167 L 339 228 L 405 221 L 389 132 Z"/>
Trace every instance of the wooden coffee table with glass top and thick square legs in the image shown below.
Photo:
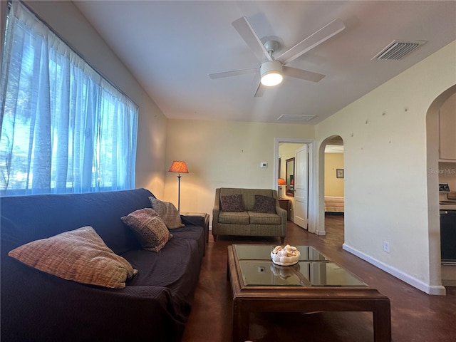
<path fill-rule="evenodd" d="M 391 341 L 390 299 L 310 246 L 294 266 L 276 266 L 275 246 L 228 247 L 227 277 L 233 293 L 233 341 L 249 339 L 253 312 L 372 311 L 375 342 Z"/>

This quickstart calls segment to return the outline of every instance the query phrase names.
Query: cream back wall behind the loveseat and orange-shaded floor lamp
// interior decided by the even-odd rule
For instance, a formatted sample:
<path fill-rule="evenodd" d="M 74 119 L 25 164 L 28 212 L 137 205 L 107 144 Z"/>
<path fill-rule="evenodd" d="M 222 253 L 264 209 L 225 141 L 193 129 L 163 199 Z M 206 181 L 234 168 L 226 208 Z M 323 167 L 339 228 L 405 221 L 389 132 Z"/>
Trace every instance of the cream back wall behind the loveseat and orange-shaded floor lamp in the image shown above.
<path fill-rule="evenodd" d="M 277 189 L 275 138 L 314 138 L 314 126 L 234 121 L 169 120 L 166 170 L 172 160 L 189 169 L 181 178 L 181 212 L 212 217 L 217 187 Z M 260 163 L 268 167 L 261 168 Z M 177 206 L 177 175 L 166 172 L 165 200 Z"/>

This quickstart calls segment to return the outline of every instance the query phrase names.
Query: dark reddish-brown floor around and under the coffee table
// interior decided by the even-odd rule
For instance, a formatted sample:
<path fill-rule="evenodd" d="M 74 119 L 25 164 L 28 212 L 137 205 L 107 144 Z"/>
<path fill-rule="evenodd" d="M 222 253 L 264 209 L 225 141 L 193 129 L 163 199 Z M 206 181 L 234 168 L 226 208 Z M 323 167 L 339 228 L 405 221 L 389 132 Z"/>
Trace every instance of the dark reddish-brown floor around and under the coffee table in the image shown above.
<path fill-rule="evenodd" d="M 227 281 L 229 244 L 279 244 L 279 239 L 209 237 L 199 285 L 182 342 L 232 341 L 232 294 Z M 310 245 L 345 267 L 391 301 L 393 342 L 455 342 L 456 288 L 447 296 L 429 296 L 394 276 L 343 251 L 343 216 L 326 217 L 326 236 L 309 234 L 292 222 L 285 244 Z M 406 257 L 406 256 L 404 256 Z M 253 314 L 249 338 L 254 342 L 371 342 L 372 314 L 320 312 L 315 314 Z"/>

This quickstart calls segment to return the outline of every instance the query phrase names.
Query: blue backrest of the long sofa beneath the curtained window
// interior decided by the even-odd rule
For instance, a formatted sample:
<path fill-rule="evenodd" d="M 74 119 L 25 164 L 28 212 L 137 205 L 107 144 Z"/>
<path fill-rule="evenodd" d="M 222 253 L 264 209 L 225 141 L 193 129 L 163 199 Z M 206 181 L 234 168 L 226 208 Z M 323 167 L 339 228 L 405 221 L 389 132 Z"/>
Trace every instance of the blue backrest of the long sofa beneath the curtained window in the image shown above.
<path fill-rule="evenodd" d="M 91 226 L 116 254 L 140 248 L 120 217 L 150 208 L 149 190 L 0 198 L 1 254 L 37 239 Z"/>

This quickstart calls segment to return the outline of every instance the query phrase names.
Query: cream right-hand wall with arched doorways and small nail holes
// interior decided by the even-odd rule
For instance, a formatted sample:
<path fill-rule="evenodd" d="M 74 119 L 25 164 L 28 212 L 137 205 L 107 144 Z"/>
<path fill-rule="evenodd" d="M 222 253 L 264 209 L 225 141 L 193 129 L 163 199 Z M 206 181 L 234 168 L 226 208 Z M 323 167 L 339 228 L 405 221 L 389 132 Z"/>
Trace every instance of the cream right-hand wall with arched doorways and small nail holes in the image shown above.
<path fill-rule="evenodd" d="M 438 221 L 428 224 L 438 203 L 428 208 L 426 115 L 455 83 L 452 42 L 316 127 L 318 146 L 333 135 L 343 138 L 344 248 L 428 293 L 445 290 Z"/>

